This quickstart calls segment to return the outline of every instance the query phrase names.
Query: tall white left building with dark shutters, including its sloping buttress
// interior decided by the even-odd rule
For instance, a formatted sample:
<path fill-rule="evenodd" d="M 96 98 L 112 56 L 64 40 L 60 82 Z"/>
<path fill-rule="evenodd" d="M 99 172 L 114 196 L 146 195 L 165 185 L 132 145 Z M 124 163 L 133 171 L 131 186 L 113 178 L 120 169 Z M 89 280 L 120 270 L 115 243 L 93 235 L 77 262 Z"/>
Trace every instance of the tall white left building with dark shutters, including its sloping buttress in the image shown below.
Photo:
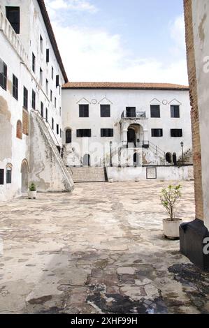
<path fill-rule="evenodd" d="M 0 0 L 0 200 L 71 191 L 62 147 L 66 72 L 44 1 Z"/>

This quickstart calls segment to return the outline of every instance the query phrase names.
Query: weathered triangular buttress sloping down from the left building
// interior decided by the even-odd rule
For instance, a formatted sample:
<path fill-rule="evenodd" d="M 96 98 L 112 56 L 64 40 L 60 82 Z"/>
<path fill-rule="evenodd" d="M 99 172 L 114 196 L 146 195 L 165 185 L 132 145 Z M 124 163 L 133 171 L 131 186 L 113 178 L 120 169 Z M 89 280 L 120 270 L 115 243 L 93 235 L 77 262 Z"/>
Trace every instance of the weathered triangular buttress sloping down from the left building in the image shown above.
<path fill-rule="evenodd" d="M 42 119 L 31 112 L 30 178 L 38 191 L 72 191 L 73 181 Z"/>

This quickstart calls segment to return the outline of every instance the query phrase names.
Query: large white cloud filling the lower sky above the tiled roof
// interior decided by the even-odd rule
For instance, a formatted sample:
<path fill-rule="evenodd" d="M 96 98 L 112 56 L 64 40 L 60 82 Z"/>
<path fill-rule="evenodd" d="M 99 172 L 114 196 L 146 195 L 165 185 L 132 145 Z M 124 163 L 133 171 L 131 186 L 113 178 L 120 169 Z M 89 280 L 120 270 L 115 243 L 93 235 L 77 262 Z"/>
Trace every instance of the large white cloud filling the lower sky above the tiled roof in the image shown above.
<path fill-rule="evenodd" d="M 188 83 L 184 45 L 178 41 L 181 20 L 170 26 L 173 52 L 178 53 L 170 64 L 154 58 L 129 59 L 121 36 L 105 30 L 63 27 L 58 20 L 52 25 L 70 81 Z"/>

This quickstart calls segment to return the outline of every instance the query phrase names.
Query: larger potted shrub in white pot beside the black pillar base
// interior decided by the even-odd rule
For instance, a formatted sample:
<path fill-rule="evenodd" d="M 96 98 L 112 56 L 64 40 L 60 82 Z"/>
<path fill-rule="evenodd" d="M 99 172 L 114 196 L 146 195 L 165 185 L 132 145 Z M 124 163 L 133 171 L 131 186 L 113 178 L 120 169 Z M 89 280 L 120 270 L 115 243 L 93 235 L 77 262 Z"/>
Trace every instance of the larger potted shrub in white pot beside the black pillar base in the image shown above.
<path fill-rule="evenodd" d="M 164 219 L 164 236 L 168 239 L 179 239 L 179 226 L 182 221 L 180 218 L 175 218 L 176 210 L 180 199 L 181 186 L 168 186 L 168 188 L 161 191 L 161 204 L 165 207 L 169 214 L 169 218 Z"/>

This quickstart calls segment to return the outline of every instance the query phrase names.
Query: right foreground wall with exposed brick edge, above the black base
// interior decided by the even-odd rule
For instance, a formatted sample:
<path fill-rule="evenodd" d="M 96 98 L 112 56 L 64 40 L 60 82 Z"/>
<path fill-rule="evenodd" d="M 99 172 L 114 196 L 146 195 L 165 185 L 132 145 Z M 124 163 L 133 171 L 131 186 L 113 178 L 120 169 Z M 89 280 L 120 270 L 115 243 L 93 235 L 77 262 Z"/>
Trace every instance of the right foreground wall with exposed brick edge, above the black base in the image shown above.
<path fill-rule="evenodd" d="M 192 100 L 196 217 L 209 228 L 209 2 L 185 0 L 187 61 Z"/>

